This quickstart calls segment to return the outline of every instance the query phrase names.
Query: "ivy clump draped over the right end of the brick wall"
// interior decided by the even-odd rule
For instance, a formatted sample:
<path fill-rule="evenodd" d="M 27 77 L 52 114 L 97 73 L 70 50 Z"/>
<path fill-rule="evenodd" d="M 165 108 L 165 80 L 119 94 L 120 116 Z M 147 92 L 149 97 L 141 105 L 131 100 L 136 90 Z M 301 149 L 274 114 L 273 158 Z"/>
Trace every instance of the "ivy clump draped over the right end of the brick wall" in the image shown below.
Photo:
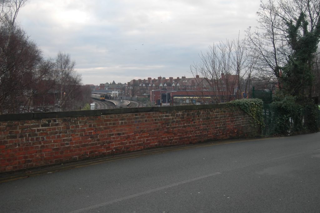
<path fill-rule="evenodd" d="M 248 113 L 257 125 L 261 127 L 264 126 L 263 101 L 261 99 L 238 99 L 229 103 L 233 106 L 240 107 L 240 109 Z"/>

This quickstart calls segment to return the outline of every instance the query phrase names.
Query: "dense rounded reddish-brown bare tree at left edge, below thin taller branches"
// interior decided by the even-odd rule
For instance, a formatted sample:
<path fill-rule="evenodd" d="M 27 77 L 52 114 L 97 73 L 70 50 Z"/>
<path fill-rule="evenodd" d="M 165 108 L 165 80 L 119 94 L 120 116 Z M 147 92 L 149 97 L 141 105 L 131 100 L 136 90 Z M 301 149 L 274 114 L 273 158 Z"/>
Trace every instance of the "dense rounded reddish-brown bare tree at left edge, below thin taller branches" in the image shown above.
<path fill-rule="evenodd" d="M 20 112 L 41 64 L 41 51 L 16 26 L 2 30 L 0 38 L 0 111 Z"/>

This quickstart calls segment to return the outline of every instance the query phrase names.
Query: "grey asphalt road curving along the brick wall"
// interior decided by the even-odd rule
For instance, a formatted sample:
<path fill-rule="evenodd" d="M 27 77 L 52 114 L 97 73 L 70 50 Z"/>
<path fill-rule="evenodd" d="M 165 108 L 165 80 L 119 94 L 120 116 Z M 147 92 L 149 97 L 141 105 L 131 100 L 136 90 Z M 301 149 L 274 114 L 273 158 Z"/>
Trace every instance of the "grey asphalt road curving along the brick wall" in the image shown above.
<path fill-rule="evenodd" d="M 160 149 L 56 170 L 0 179 L 0 212 L 320 212 L 320 133 Z"/>

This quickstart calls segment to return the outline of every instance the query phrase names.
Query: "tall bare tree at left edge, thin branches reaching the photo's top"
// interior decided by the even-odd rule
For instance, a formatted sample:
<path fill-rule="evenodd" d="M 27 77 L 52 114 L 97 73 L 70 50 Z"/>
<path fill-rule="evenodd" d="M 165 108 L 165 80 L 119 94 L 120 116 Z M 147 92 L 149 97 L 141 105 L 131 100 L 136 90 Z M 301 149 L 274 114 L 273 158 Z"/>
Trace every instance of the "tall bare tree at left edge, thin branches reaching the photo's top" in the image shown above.
<path fill-rule="evenodd" d="M 0 0 L 0 113 L 19 112 L 26 85 L 41 61 L 37 46 L 15 24 L 24 0 Z"/>

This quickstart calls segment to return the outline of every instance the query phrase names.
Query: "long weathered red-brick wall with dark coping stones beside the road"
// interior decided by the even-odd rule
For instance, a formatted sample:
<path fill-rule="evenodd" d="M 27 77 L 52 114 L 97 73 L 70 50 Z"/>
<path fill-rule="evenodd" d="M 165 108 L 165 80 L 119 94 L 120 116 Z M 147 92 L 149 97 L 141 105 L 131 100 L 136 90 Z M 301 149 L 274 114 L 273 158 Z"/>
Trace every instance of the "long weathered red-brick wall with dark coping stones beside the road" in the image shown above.
<path fill-rule="evenodd" d="M 0 172 L 259 136 L 252 122 L 227 104 L 0 115 Z"/>

